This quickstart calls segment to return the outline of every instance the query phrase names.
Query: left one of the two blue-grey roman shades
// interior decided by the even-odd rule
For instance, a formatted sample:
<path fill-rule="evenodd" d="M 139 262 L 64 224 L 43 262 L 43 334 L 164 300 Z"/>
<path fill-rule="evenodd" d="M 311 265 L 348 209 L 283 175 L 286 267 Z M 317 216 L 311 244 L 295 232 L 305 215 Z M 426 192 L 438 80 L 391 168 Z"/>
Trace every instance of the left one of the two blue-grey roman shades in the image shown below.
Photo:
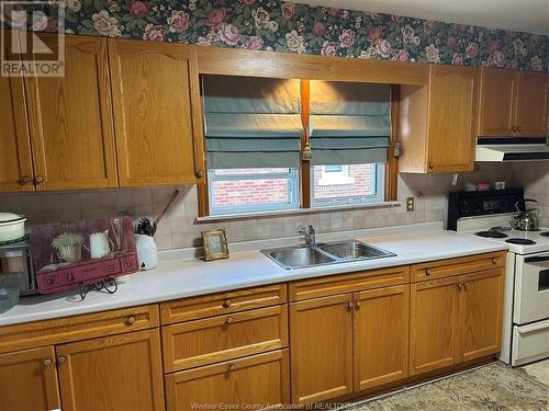
<path fill-rule="evenodd" d="M 299 167 L 299 80 L 205 76 L 203 96 L 210 169 Z"/>

